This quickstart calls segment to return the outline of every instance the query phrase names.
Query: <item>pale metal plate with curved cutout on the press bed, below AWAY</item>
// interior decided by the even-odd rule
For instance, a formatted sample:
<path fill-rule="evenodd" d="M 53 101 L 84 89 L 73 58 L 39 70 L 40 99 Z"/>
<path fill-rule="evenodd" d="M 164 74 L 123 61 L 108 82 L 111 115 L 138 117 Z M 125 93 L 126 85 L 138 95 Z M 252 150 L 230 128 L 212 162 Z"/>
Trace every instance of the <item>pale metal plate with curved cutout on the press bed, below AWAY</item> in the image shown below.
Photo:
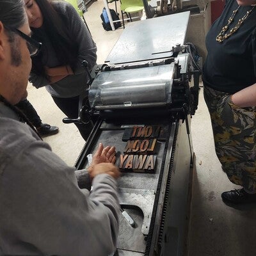
<path fill-rule="evenodd" d="M 152 210 L 155 200 L 155 191 L 148 189 L 119 189 L 119 202 L 121 205 L 134 205 L 143 212 L 143 224 L 141 232 L 144 235 L 148 234 Z"/>

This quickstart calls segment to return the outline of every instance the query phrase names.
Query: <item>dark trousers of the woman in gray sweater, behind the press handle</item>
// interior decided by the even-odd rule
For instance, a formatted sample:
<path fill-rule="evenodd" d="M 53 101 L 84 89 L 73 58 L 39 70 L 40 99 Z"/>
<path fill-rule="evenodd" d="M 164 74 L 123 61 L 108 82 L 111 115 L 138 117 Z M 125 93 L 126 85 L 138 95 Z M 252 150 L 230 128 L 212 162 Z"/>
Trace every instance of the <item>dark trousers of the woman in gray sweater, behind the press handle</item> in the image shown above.
<path fill-rule="evenodd" d="M 72 98 L 52 97 L 52 99 L 54 100 L 54 102 L 58 106 L 58 108 L 60 108 L 61 111 L 68 118 L 76 119 L 78 117 L 79 96 L 72 97 Z M 90 105 L 88 103 L 88 98 L 85 98 L 83 100 L 83 102 L 84 102 L 84 104 L 86 104 L 90 108 Z M 87 140 L 88 136 L 90 135 L 90 132 L 93 129 L 93 123 L 94 122 L 89 122 L 88 124 L 76 124 L 76 123 L 74 123 L 84 140 Z"/>

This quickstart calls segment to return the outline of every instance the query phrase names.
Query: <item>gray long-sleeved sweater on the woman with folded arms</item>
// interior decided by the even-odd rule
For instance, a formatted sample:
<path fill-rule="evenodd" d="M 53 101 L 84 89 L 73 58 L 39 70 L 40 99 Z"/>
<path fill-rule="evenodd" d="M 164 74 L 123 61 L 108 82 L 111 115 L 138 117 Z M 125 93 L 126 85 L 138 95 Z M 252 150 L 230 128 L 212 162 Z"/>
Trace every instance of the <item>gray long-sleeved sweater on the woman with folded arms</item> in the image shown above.
<path fill-rule="evenodd" d="M 65 1 L 53 1 L 52 4 L 58 12 L 63 13 L 67 17 L 68 31 L 70 31 L 72 38 L 74 38 L 74 44 L 76 43 L 78 45 L 77 63 L 75 70 L 73 70 L 74 75 L 67 76 L 57 83 L 49 84 L 49 81 L 44 76 L 37 76 L 31 72 L 29 81 L 36 88 L 45 86 L 46 90 L 54 97 L 75 97 L 84 92 L 86 83 L 88 82 L 88 75 L 84 67 L 81 67 L 81 61 L 86 60 L 88 62 L 88 68 L 91 70 L 97 60 L 97 47 L 83 20 L 79 17 L 73 6 Z M 50 68 L 63 65 L 58 61 L 51 41 L 44 32 L 43 26 L 40 28 L 40 33 L 45 34 L 44 47 L 42 47 L 42 61 L 44 65 Z"/>

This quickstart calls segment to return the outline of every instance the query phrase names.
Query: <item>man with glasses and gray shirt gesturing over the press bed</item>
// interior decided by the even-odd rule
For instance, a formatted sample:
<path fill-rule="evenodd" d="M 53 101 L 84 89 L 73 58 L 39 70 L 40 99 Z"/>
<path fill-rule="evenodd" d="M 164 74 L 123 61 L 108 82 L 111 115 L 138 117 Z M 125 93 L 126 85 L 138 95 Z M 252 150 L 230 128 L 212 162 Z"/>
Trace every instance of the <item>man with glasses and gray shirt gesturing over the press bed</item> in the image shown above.
<path fill-rule="evenodd" d="M 109 255 L 118 232 L 115 148 L 100 143 L 88 173 L 75 171 L 13 106 L 40 50 L 23 3 L 0 1 L 0 255 Z M 92 191 L 79 188 L 77 173 Z"/>

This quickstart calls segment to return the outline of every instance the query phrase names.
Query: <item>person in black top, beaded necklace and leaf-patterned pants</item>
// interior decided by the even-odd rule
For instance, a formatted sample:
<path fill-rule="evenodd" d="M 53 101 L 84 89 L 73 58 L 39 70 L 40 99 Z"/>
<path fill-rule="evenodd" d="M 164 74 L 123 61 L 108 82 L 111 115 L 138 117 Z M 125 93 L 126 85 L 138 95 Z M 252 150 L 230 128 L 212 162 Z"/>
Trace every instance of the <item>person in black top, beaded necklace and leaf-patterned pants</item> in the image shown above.
<path fill-rule="evenodd" d="M 256 1 L 226 0 L 206 36 L 204 98 L 228 179 L 224 202 L 256 203 Z"/>

